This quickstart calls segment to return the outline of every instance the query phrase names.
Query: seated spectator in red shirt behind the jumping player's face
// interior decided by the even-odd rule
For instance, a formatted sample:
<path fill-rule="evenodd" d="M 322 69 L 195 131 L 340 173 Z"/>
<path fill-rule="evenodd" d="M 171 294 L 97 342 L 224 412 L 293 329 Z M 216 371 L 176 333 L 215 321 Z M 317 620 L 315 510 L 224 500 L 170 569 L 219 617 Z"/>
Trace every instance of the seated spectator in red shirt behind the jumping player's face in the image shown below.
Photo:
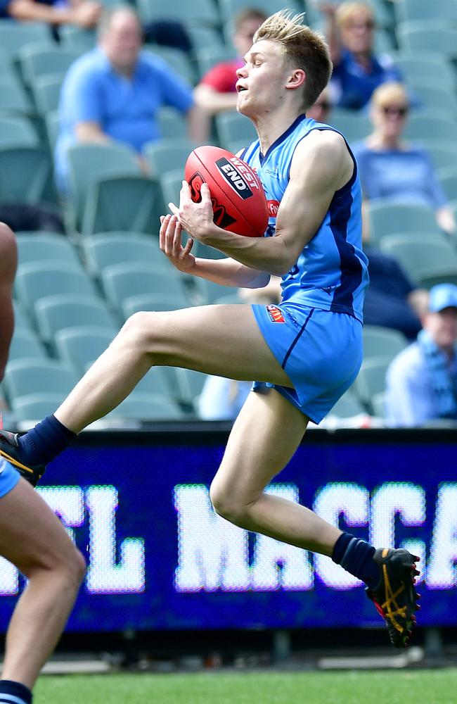
<path fill-rule="evenodd" d="M 195 102 L 207 115 L 236 110 L 236 70 L 243 65 L 243 56 L 250 50 L 252 38 L 264 20 L 266 15 L 256 9 L 247 8 L 236 15 L 232 42 L 238 57 L 214 65 L 194 90 Z"/>

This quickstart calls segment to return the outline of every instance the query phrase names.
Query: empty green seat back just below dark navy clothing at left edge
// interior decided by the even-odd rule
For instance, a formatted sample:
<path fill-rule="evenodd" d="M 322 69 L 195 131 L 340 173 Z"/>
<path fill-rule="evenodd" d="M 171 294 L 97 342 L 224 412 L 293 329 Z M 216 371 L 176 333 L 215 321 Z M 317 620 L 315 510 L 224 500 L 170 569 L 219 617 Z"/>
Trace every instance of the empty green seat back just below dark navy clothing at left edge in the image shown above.
<path fill-rule="evenodd" d="M 62 234 L 54 232 L 16 233 L 18 264 L 30 262 L 64 262 L 84 270 L 75 246 Z"/>

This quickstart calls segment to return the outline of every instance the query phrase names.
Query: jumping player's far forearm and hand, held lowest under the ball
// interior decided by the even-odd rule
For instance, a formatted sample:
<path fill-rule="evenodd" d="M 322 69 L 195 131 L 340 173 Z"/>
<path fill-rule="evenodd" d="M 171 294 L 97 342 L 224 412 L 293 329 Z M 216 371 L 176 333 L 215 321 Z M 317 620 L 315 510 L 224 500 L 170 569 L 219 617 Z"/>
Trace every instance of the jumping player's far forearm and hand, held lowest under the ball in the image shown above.
<path fill-rule="evenodd" d="M 179 271 L 223 286 L 257 289 L 268 284 L 269 274 L 247 267 L 234 259 L 195 257 L 191 251 L 193 239 L 189 237 L 186 244 L 182 244 L 183 228 L 176 215 L 162 215 L 160 222 L 160 249 Z"/>

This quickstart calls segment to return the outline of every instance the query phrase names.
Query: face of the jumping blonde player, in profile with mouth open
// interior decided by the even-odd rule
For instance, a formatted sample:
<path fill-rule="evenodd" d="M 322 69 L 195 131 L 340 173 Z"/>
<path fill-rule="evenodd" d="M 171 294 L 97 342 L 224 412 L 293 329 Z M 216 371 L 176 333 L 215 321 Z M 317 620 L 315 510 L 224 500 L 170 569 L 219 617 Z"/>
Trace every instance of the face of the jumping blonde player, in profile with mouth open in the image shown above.
<path fill-rule="evenodd" d="M 245 65 L 236 72 L 237 108 L 243 115 L 262 116 L 283 101 L 290 66 L 280 46 L 268 39 L 253 44 L 244 60 Z"/>

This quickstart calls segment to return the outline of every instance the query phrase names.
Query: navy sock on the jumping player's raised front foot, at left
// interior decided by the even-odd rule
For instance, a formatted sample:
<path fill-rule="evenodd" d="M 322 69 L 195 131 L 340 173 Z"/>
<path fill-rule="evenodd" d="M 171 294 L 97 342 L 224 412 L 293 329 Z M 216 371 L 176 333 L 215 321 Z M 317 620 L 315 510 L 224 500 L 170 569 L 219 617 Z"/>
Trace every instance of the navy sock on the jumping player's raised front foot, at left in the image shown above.
<path fill-rule="evenodd" d="M 25 464 L 47 465 L 70 445 L 76 434 L 62 425 L 56 416 L 48 415 L 18 438 L 20 458 Z"/>

